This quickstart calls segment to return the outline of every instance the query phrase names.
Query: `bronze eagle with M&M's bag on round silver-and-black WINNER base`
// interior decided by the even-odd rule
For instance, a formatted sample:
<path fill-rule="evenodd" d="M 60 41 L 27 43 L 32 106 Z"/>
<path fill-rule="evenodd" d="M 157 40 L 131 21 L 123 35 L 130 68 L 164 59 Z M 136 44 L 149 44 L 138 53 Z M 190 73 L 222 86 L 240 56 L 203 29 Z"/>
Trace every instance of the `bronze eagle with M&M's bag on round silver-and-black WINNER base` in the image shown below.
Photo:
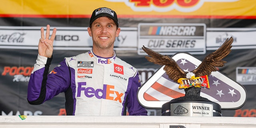
<path fill-rule="evenodd" d="M 145 46 L 142 50 L 149 62 L 164 66 L 164 71 L 173 82 L 179 83 L 185 96 L 175 98 L 162 105 L 162 116 L 221 116 L 221 106 L 200 96 L 201 88 L 210 88 L 208 76 L 222 67 L 222 60 L 231 52 L 233 38 L 227 38 L 218 50 L 208 54 L 202 63 L 191 72 L 183 71 L 170 56 L 159 54 Z"/>

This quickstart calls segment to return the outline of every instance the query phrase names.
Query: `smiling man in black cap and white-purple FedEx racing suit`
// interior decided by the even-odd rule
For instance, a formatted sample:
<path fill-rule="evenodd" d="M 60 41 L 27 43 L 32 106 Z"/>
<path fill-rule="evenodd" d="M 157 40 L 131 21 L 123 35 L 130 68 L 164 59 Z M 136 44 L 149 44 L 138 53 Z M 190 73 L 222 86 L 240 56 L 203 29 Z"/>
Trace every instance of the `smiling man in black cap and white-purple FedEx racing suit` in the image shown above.
<path fill-rule="evenodd" d="M 56 28 L 41 28 L 38 58 L 28 83 L 28 102 L 42 104 L 65 93 L 66 114 L 81 116 L 147 115 L 137 100 L 140 80 L 136 68 L 116 57 L 114 41 L 119 35 L 116 12 L 98 8 L 90 18 L 88 34 L 92 50 L 64 58 L 48 74 Z"/>

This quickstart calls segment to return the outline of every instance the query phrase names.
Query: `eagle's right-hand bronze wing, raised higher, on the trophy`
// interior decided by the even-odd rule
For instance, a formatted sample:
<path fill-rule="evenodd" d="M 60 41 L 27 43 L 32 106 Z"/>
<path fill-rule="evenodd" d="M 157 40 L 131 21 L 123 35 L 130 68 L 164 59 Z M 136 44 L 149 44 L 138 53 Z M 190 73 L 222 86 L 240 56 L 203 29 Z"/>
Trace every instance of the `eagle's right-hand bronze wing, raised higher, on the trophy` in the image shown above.
<path fill-rule="evenodd" d="M 217 71 L 215 67 L 222 67 L 226 63 L 226 61 L 222 60 L 231 52 L 231 44 L 233 42 L 233 38 L 226 39 L 226 41 L 218 48 L 215 52 L 208 54 L 202 63 L 194 69 L 192 72 L 196 77 L 210 75 L 212 71 Z"/>

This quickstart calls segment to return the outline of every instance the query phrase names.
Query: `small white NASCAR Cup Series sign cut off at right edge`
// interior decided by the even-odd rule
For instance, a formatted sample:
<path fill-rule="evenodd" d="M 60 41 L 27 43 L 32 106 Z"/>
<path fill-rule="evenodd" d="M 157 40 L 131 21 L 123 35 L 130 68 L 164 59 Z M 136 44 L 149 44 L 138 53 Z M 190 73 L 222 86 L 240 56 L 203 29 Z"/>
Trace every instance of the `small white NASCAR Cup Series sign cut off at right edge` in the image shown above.
<path fill-rule="evenodd" d="M 256 83 L 256 67 L 236 67 L 236 81 L 248 85 Z"/>

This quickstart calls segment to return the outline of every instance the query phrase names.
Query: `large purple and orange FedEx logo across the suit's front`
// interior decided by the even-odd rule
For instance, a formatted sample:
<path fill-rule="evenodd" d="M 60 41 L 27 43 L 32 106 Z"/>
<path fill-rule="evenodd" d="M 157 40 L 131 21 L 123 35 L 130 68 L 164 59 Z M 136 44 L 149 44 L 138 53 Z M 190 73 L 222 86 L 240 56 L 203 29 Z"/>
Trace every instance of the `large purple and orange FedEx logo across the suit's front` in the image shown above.
<path fill-rule="evenodd" d="M 123 93 L 119 93 L 115 91 L 115 86 L 103 84 L 103 90 L 98 88 L 94 89 L 92 87 L 84 87 L 86 86 L 86 82 L 78 82 L 77 88 L 77 97 L 81 96 L 82 91 L 84 91 L 84 95 L 88 98 L 96 97 L 98 99 L 107 99 L 107 100 L 114 100 L 119 101 L 122 103 L 121 97 L 124 95 Z"/>

